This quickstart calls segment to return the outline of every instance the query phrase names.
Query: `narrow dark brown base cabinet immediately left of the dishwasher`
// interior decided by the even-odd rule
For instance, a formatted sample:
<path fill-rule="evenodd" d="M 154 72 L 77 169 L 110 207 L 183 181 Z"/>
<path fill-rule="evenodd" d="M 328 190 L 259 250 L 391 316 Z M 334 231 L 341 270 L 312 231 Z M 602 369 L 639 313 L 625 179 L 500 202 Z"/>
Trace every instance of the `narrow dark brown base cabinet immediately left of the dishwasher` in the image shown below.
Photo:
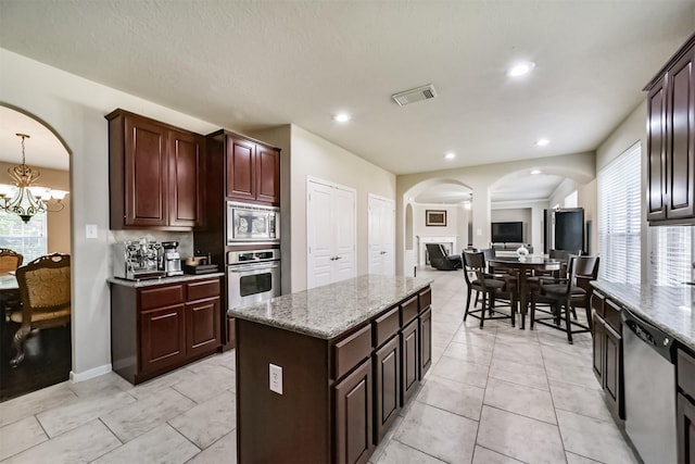
<path fill-rule="evenodd" d="M 622 325 L 620 305 L 594 290 L 592 296 L 593 371 L 606 394 L 607 404 L 620 418 L 624 413 Z"/>

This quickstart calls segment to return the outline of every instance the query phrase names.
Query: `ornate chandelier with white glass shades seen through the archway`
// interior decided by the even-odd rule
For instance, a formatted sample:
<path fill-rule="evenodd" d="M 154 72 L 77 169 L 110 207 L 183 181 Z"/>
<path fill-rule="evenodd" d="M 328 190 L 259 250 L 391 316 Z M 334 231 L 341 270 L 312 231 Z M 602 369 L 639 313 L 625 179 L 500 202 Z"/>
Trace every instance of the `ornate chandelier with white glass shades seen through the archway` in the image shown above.
<path fill-rule="evenodd" d="M 18 215 L 25 223 L 36 214 L 62 211 L 65 208 L 62 201 L 67 192 L 34 185 L 41 174 L 25 163 L 24 140 L 29 136 L 26 134 L 16 136 L 22 138 L 22 164 L 8 170 L 13 185 L 0 185 L 0 209 Z M 51 199 L 55 202 L 49 205 L 48 201 Z"/>

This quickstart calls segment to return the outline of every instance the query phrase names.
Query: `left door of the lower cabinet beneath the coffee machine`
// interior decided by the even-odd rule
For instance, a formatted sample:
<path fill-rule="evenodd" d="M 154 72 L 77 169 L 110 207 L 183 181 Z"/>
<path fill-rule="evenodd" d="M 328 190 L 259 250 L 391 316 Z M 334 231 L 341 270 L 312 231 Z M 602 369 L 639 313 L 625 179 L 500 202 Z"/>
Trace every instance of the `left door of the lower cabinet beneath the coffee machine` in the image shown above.
<path fill-rule="evenodd" d="M 186 358 L 184 304 L 140 313 L 140 372 L 148 373 Z"/>

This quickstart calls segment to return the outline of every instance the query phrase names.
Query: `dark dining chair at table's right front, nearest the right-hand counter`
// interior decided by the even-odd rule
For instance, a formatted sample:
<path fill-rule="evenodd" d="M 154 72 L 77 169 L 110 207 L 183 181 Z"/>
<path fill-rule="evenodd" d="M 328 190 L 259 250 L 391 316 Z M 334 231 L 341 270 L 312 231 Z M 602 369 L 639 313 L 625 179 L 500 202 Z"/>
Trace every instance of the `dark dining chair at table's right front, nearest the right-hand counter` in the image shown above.
<path fill-rule="evenodd" d="M 598 276 L 598 256 L 570 255 L 567 278 L 554 280 L 541 279 L 538 292 L 531 297 L 531 329 L 534 323 L 553 327 L 567 333 L 567 341 L 571 344 L 572 334 L 591 333 L 591 288 L 589 281 L 595 280 Z M 580 283 L 584 284 L 581 285 Z M 539 302 L 549 304 L 551 311 L 543 311 L 536 308 Z M 586 325 L 572 321 L 570 313 L 574 308 L 584 308 L 586 311 Z M 548 314 L 536 317 L 536 311 Z M 574 313 L 576 316 L 576 313 Z M 565 319 L 563 327 L 561 321 Z M 552 323 L 548 323 L 552 321 Z M 572 326 L 578 327 L 577 330 Z"/>

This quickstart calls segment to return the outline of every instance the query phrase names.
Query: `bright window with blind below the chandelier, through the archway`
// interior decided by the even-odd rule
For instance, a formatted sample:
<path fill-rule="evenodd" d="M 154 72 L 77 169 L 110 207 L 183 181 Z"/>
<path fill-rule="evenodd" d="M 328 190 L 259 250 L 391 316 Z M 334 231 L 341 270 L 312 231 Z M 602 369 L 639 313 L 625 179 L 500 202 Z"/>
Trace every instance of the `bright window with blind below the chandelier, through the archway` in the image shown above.
<path fill-rule="evenodd" d="M 23 264 L 47 254 L 46 214 L 37 214 L 25 224 L 16 214 L 0 210 L 0 248 L 24 255 Z"/>

